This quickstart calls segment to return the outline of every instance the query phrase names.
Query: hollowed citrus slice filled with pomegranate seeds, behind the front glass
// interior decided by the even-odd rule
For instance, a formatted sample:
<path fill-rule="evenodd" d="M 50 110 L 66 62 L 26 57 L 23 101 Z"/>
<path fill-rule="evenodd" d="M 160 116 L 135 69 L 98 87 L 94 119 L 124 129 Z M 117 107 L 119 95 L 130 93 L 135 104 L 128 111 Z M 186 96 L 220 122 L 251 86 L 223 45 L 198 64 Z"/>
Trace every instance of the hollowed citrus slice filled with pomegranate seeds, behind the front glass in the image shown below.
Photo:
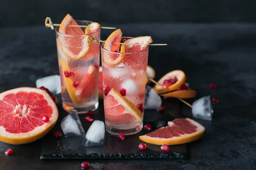
<path fill-rule="evenodd" d="M 174 82 L 173 82 L 174 81 Z M 174 70 L 164 75 L 154 86 L 157 94 L 163 94 L 173 91 L 180 87 L 186 81 L 186 75 L 181 70 Z"/>

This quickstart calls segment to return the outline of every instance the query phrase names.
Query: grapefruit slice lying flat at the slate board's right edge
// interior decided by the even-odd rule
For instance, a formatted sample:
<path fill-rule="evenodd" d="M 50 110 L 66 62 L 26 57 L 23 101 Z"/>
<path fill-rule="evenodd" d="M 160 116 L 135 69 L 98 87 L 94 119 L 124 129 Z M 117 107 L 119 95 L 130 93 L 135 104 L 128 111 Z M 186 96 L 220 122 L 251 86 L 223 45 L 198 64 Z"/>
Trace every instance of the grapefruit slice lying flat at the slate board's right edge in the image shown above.
<path fill-rule="evenodd" d="M 140 140 L 150 144 L 174 145 L 192 142 L 204 135 L 204 126 L 189 118 L 174 119 L 168 125 L 140 136 Z"/>

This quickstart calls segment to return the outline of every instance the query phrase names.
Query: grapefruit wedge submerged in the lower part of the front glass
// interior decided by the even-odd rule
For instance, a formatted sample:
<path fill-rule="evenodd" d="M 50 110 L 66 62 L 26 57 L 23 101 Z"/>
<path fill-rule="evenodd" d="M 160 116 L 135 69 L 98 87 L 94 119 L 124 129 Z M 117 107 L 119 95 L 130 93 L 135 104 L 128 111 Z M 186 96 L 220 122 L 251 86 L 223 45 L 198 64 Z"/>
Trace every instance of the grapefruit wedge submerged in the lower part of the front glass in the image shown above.
<path fill-rule="evenodd" d="M 143 114 L 128 99 L 113 88 L 104 100 L 105 119 L 113 123 L 140 122 Z"/>

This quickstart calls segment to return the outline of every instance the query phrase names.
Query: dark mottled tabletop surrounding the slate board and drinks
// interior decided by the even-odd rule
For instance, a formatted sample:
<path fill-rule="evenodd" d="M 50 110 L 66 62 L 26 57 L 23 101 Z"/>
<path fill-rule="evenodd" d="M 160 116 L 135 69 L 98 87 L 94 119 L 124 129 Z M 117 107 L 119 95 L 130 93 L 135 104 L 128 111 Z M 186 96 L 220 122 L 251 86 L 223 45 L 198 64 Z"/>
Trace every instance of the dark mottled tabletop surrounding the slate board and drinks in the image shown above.
<path fill-rule="evenodd" d="M 103 24 L 102 24 L 103 25 Z M 104 24 L 104 26 L 110 26 Z M 189 143 L 190 158 L 176 160 L 87 160 L 90 169 L 256 169 L 256 25 L 245 24 L 125 24 L 124 36 L 150 35 L 148 64 L 156 79 L 174 69 L 186 73 L 198 96 L 212 95 L 212 121 L 195 119 L 206 128 L 202 139 Z M 0 92 L 58 74 L 55 32 L 44 26 L 0 28 Z M 102 40 L 111 33 L 102 30 Z M 210 89 L 214 82 L 217 89 Z M 189 100 L 190 103 L 193 102 Z M 183 105 L 184 116 L 192 117 Z M 31 144 L 0 142 L 0 170 L 80 169 L 83 160 L 40 160 L 43 139 Z M 12 148 L 14 154 L 5 156 Z"/>

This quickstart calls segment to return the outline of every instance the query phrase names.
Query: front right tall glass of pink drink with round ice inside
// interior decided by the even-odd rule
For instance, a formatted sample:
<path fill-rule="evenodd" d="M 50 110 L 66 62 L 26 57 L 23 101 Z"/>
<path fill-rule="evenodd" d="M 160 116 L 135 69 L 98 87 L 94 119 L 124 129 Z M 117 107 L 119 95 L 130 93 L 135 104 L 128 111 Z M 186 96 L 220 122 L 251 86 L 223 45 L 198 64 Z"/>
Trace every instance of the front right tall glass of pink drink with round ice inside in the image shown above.
<path fill-rule="evenodd" d="M 121 42 L 131 39 L 122 37 Z M 101 45 L 105 127 L 131 135 L 143 128 L 148 47 L 139 52 L 108 51 Z M 120 59 L 118 65 L 111 60 Z"/>

